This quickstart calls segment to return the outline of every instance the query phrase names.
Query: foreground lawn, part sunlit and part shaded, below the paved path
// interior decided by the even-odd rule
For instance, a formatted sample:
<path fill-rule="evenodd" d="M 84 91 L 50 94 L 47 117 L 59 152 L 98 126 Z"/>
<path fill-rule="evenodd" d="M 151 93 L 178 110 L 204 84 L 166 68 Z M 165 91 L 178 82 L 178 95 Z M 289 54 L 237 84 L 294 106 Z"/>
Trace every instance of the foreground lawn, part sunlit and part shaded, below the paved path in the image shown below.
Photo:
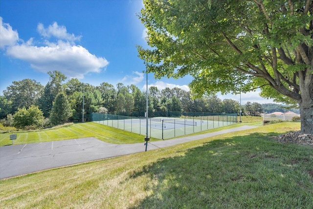
<path fill-rule="evenodd" d="M 313 148 L 285 122 L 0 181 L 1 208 L 313 208 Z"/>

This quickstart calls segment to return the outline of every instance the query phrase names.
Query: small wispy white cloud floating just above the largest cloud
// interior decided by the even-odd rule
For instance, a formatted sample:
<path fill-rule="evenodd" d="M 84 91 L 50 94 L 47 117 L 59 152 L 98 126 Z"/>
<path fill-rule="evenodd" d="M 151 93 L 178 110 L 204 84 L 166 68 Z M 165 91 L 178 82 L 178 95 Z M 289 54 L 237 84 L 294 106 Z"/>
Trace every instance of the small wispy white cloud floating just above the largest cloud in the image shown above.
<path fill-rule="evenodd" d="M 47 28 L 45 28 L 44 24 L 38 23 L 37 31 L 46 38 L 55 37 L 71 42 L 79 41 L 82 38 L 82 36 L 67 33 L 67 28 L 64 25 L 58 25 L 57 22 L 50 24 Z"/>

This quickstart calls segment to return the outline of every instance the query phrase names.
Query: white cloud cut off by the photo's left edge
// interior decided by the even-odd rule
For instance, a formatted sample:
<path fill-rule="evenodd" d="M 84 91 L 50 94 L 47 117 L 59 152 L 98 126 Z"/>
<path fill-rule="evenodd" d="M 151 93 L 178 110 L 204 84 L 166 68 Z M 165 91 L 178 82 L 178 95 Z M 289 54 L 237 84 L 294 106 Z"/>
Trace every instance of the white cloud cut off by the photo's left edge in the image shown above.
<path fill-rule="evenodd" d="M 0 17 L 0 48 L 5 46 L 13 46 L 19 40 L 19 34 L 17 31 L 13 30 L 11 25 L 2 22 L 2 17 Z"/>

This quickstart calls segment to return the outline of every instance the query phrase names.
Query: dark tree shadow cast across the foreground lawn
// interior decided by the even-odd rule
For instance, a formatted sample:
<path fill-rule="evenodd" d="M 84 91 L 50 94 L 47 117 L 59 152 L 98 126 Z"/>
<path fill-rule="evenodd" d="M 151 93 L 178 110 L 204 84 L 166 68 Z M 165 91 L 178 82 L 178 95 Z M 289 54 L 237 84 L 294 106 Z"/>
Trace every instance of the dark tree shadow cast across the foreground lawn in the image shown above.
<path fill-rule="evenodd" d="M 312 148 L 280 144 L 275 133 L 213 140 L 157 161 L 134 208 L 313 208 Z"/>

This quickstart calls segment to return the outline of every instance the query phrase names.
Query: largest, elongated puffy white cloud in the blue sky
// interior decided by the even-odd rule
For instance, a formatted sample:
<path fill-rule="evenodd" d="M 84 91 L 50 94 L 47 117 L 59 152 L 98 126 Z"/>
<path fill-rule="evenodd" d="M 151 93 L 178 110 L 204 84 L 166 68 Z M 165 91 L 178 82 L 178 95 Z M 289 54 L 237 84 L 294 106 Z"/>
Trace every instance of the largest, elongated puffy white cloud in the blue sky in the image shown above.
<path fill-rule="evenodd" d="M 7 54 L 30 63 L 36 70 L 47 72 L 58 70 L 70 78 L 84 78 L 89 72 L 100 72 L 109 62 L 96 57 L 82 46 L 68 42 L 46 43 L 46 46 L 33 46 L 30 39 L 25 44 L 7 49 Z"/>

